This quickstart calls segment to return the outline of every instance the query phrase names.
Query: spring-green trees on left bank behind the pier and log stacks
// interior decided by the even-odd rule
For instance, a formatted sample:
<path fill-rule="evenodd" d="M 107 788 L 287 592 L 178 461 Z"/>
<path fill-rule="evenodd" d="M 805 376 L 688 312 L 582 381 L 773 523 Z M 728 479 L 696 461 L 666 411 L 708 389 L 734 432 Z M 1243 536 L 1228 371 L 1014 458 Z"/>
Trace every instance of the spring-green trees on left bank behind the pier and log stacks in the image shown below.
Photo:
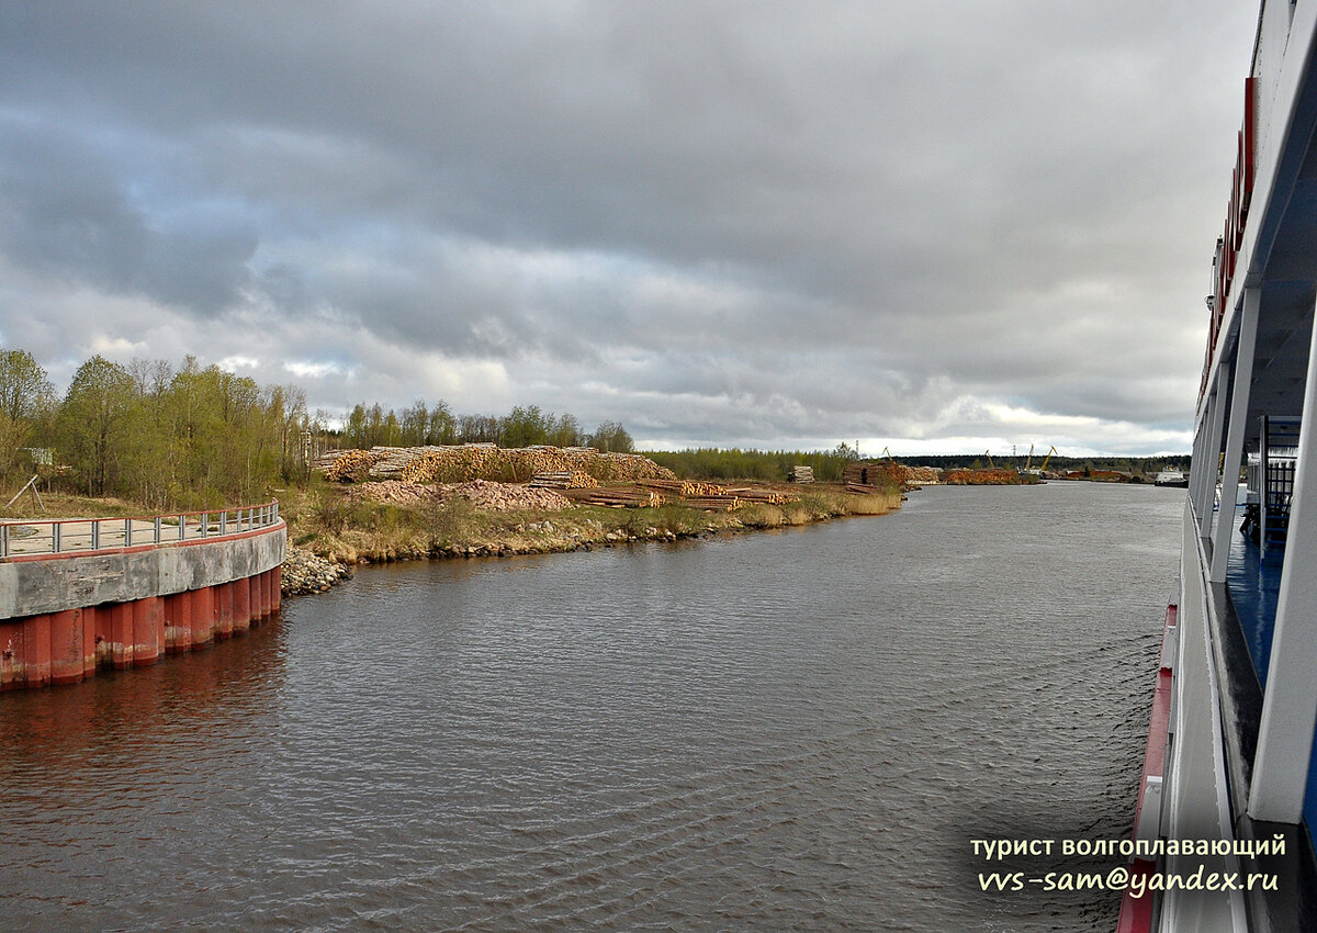
<path fill-rule="evenodd" d="M 454 415 L 440 401 L 396 412 L 357 405 L 341 427 L 307 409 L 294 385 L 261 386 L 188 356 L 179 366 L 101 356 L 74 373 L 63 397 L 22 349 L 0 351 L 0 478 L 116 495 L 146 509 L 255 502 L 309 480 L 324 449 L 493 441 L 633 449 L 616 422 L 586 434 L 572 415 L 515 407 L 502 418 Z"/>

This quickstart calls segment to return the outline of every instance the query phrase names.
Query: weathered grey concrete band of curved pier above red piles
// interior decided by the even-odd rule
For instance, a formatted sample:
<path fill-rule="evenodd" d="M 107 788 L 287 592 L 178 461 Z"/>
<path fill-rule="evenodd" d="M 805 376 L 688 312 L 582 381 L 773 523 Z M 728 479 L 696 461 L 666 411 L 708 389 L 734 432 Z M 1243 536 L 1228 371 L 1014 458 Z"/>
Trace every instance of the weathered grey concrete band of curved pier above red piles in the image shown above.
<path fill-rule="evenodd" d="M 270 528 L 219 540 L 12 557 L 0 563 L 0 619 L 132 602 L 248 580 L 279 567 L 286 546 L 287 527 L 279 522 Z"/>

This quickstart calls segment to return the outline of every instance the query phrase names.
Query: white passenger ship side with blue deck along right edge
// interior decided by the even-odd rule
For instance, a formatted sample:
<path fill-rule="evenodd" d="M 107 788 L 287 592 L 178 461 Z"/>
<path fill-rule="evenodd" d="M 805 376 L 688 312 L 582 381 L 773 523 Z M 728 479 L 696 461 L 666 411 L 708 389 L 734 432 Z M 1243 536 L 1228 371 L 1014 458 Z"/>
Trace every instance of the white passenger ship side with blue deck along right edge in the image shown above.
<path fill-rule="evenodd" d="M 1121 930 L 1317 929 L 1314 47 L 1317 3 L 1263 3 Z"/>

